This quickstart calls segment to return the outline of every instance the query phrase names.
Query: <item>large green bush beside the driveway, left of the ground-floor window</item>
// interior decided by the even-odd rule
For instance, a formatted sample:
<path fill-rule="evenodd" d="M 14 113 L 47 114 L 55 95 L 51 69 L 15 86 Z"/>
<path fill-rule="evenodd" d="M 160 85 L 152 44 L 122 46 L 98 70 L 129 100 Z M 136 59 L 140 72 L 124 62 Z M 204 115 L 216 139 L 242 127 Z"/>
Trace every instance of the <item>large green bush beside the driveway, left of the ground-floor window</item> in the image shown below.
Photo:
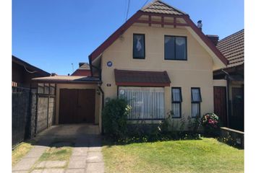
<path fill-rule="evenodd" d="M 110 99 L 102 112 L 103 130 L 113 137 L 124 137 L 127 134 L 127 117 L 131 107 L 125 99 Z"/>

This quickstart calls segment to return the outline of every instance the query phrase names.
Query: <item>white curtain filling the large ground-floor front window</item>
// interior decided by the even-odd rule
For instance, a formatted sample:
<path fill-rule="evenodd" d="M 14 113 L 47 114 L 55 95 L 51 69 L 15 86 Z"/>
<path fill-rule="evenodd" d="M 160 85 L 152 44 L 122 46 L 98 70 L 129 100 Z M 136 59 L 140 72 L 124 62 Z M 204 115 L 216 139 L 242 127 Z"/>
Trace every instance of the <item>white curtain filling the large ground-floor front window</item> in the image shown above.
<path fill-rule="evenodd" d="M 132 106 L 129 119 L 164 118 L 163 88 L 121 86 L 119 96 L 126 98 Z"/>

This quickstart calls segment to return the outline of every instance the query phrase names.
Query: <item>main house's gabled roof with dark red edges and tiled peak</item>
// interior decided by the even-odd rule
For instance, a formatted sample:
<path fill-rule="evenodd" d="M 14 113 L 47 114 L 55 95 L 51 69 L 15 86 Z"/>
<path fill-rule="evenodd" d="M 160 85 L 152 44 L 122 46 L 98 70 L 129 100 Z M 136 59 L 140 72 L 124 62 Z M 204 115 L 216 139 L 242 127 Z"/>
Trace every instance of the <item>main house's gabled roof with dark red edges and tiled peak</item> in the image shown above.
<path fill-rule="evenodd" d="M 192 22 L 192 20 L 189 18 L 188 14 L 185 14 L 179 9 L 176 9 L 166 3 L 163 3 L 163 1 L 160 0 L 155 0 L 152 3 L 146 5 L 145 7 L 142 7 L 142 9 L 137 11 L 132 17 L 130 17 L 127 20 L 127 22 L 121 25 L 119 29 L 117 29 L 111 36 L 109 36 L 107 40 L 105 40 L 100 46 L 98 46 L 98 48 L 96 48 L 93 51 L 93 53 L 91 53 L 89 56 L 90 64 L 93 60 L 95 60 L 95 58 L 101 56 L 101 53 L 103 53 L 103 51 L 106 50 L 106 48 L 108 48 L 112 43 L 114 43 L 114 41 L 117 40 L 118 37 L 122 35 L 132 24 L 137 22 L 137 19 L 139 19 L 142 15 L 154 14 L 161 15 L 161 17 L 182 17 L 187 22 L 188 26 L 191 27 L 192 30 L 200 37 L 202 42 L 205 43 L 208 46 L 208 48 L 210 48 L 210 50 L 213 51 L 216 57 L 218 57 L 223 64 L 227 65 L 227 59 L 221 54 L 221 52 L 216 48 L 216 46 L 213 45 L 213 43 L 208 39 L 208 37 L 205 34 L 203 34 L 199 28 L 197 28 L 195 23 Z M 174 23 L 174 25 L 176 25 L 176 23 Z"/>

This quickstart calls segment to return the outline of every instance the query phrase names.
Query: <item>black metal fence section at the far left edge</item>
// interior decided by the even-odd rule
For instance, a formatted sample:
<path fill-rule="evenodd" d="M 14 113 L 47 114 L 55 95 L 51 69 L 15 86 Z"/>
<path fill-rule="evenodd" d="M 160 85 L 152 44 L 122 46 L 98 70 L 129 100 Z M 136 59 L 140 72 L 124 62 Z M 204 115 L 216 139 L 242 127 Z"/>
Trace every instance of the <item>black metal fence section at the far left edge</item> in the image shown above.
<path fill-rule="evenodd" d="M 12 87 L 12 146 L 27 138 L 30 89 Z"/>

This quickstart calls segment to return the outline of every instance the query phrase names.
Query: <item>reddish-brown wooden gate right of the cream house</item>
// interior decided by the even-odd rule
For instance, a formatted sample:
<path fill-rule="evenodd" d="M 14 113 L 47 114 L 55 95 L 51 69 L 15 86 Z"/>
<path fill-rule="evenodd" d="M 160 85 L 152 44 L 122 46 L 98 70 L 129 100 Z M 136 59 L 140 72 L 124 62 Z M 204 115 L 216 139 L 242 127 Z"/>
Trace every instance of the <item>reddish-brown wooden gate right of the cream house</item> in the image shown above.
<path fill-rule="evenodd" d="M 220 117 L 224 126 L 227 125 L 226 116 L 226 86 L 214 86 L 214 112 Z"/>

